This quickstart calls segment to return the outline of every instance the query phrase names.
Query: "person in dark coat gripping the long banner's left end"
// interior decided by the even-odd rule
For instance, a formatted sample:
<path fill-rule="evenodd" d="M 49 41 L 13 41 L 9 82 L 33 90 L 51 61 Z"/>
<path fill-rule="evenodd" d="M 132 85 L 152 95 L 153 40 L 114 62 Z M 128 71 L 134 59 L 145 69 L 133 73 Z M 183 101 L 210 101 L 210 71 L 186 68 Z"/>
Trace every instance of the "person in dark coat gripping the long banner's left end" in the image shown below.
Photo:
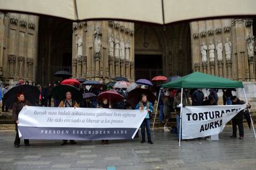
<path fill-rule="evenodd" d="M 28 102 L 28 100 L 25 100 L 25 96 L 22 93 L 17 94 L 17 102 L 14 102 L 14 104 L 12 105 L 12 117 L 15 123 L 15 131 L 16 131 L 16 136 L 15 136 L 15 140 L 14 140 L 14 147 L 17 148 L 20 146 L 20 137 L 19 137 L 19 132 L 18 132 L 18 124 L 19 124 L 19 113 L 20 110 L 22 110 L 22 108 L 24 106 L 30 106 L 31 103 Z M 25 146 L 29 146 L 29 140 L 28 139 L 24 139 L 24 144 Z"/>

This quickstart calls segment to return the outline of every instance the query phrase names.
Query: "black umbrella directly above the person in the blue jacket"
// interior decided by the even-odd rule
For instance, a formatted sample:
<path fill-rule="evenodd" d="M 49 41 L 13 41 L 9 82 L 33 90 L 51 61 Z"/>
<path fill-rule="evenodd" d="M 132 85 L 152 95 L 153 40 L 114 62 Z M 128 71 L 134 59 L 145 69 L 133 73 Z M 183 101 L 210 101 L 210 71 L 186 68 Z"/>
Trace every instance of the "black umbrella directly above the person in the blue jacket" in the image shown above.
<path fill-rule="evenodd" d="M 136 88 L 128 93 L 127 102 L 135 108 L 139 103 L 142 94 L 147 95 L 148 101 L 150 101 L 153 105 L 155 104 L 156 96 L 149 89 Z"/>

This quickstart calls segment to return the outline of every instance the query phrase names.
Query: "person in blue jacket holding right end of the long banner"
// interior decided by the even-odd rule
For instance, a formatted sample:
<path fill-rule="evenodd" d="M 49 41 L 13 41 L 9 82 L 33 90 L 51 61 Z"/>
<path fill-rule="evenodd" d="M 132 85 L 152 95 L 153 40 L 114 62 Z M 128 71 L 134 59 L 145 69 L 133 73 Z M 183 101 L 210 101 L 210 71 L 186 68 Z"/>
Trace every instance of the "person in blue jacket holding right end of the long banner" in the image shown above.
<path fill-rule="evenodd" d="M 145 127 L 147 129 L 147 136 L 148 136 L 148 144 L 153 144 L 151 140 L 151 135 L 150 135 L 150 113 L 153 113 L 153 105 L 151 102 L 147 100 L 147 95 L 142 94 L 140 102 L 137 104 L 135 109 L 139 109 L 141 111 L 147 110 L 148 113 L 145 117 L 145 119 L 142 122 L 141 131 L 142 131 L 142 141 L 140 143 L 145 143 Z"/>

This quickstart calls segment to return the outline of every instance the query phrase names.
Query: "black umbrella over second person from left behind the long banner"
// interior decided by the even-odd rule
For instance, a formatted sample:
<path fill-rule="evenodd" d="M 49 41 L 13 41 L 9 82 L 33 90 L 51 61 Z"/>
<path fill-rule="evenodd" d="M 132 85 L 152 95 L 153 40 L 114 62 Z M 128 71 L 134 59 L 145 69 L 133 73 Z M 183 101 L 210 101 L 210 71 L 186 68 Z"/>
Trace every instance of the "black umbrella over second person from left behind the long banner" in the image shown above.
<path fill-rule="evenodd" d="M 53 95 L 54 99 L 61 101 L 66 98 L 65 95 L 67 91 L 71 92 L 72 99 L 77 101 L 77 103 L 83 102 L 82 92 L 80 92 L 79 89 L 77 89 L 76 87 L 70 86 L 67 84 L 61 84 L 59 86 L 54 87 L 53 90 L 51 91 L 51 94 Z"/>

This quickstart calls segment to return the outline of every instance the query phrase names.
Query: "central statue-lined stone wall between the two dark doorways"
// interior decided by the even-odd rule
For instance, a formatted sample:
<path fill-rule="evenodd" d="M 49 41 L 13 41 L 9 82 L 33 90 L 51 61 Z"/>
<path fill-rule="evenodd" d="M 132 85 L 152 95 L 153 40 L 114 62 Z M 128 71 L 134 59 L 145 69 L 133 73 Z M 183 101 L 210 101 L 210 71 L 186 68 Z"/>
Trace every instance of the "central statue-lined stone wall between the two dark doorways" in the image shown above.
<path fill-rule="evenodd" d="M 73 23 L 73 78 L 134 81 L 134 23 L 113 20 Z"/>

